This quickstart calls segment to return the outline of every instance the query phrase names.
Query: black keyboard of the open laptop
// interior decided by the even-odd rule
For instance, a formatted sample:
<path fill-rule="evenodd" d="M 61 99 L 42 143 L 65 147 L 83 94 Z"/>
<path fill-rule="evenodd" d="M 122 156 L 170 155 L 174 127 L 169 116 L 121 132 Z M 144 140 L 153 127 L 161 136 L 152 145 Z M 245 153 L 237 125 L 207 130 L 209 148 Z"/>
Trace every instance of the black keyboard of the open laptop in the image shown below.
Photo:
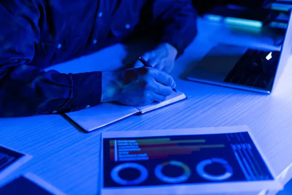
<path fill-rule="evenodd" d="M 224 82 L 252 86 L 265 89 L 271 79 L 274 79 L 277 63 L 273 63 L 274 71 L 265 71 L 266 57 L 270 52 L 249 49 L 237 61 Z M 271 62 L 275 62 L 274 59 Z M 278 60 L 277 60 L 278 61 Z M 268 64 L 271 66 L 271 63 Z M 269 67 L 271 69 L 271 67 Z"/>

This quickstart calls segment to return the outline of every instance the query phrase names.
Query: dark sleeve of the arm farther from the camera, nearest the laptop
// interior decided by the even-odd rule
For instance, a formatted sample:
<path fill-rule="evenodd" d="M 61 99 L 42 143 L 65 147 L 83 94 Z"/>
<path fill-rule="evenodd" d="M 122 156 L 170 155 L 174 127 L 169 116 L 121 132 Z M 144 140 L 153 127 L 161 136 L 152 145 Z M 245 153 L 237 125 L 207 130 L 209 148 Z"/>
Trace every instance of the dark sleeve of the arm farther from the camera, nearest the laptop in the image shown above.
<path fill-rule="evenodd" d="M 154 0 L 153 22 L 161 28 L 161 43 L 169 43 L 178 56 L 197 35 L 197 12 L 190 0 Z"/>

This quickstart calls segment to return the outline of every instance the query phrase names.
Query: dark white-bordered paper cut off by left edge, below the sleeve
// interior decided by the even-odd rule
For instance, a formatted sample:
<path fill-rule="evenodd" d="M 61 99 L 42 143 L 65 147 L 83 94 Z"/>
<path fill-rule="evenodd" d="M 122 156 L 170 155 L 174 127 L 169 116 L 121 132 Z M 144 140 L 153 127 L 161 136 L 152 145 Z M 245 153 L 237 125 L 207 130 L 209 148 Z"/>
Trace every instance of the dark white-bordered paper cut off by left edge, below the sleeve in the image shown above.
<path fill-rule="evenodd" d="M 31 159 L 32 156 L 0 146 L 0 180 Z"/>

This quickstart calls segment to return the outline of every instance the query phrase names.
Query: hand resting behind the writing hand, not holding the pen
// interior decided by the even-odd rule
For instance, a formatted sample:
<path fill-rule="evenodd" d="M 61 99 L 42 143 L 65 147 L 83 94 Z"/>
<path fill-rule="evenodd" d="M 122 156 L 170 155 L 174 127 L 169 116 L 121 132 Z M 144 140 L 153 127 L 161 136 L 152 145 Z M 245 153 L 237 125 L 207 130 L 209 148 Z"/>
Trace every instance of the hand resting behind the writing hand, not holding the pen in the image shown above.
<path fill-rule="evenodd" d="M 174 67 L 174 62 L 178 51 L 175 47 L 168 43 L 158 45 L 154 50 L 145 53 L 142 57 L 157 70 L 170 73 Z M 138 60 L 134 68 L 140 68 L 144 65 Z"/>

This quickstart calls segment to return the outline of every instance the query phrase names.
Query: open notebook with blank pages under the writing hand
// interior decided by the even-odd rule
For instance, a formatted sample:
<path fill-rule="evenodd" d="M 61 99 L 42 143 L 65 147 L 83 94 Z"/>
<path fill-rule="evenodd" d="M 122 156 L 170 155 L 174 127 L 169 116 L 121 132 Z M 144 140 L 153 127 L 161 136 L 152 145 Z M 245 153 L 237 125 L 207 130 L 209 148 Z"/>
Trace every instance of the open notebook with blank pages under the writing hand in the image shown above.
<path fill-rule="evenodd" d="M 66 113 L 65 115 L 79 125 L 84 131 L 91 132 L 126 117 L 145 114 L 158 108 L 185 99 L 183 92 L 173 92 L 165 101 L 155 102 L 147 106 L 125 106 L 115 103 L 102 103 L 92 108 Z"/>

